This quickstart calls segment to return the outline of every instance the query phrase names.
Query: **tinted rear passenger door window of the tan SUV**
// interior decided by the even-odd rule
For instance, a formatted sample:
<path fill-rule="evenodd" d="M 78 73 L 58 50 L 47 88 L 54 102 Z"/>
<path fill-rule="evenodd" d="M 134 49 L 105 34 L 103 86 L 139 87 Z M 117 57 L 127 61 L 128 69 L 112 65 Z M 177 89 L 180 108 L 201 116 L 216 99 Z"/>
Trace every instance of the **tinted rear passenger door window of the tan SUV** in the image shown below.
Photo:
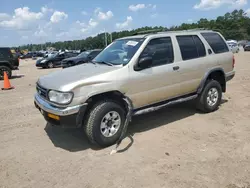
<path fill-rule="evenodd" d="M 183 60 L 204 57 L 206 50 L 200 38 L 196 35 L 176 36 Z"/>

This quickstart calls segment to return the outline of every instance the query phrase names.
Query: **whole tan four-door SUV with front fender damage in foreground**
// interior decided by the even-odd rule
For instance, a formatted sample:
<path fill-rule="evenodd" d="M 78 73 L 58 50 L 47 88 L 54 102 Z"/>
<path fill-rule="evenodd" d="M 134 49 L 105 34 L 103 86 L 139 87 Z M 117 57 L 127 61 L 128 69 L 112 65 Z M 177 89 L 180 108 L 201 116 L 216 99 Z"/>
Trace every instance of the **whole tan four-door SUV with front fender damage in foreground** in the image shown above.
<path fill-rule="evenodd" d="M 234 64 L 215 31 L 125 37 L 93 61 L 40 77 L 35 106 L 50 124 L 83 127 L 107 147 L 123 138 L 131 116 L 193 99 L 205 113 L 217 110 Z"/>

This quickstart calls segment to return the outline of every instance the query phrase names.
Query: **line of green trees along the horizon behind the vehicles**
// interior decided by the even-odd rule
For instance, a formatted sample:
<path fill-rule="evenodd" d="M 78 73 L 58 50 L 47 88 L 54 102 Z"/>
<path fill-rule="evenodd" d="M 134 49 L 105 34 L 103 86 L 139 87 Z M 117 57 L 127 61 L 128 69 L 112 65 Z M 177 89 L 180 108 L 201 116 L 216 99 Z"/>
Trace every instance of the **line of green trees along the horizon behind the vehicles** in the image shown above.
<path fill-rule="evenodd" d="M 250 39 L 250 18 L 243 10 L 234 10 L 231 13 L 226 13 L 224 16 L 219 16 L 215 20 L 208 20 L 206 18 L 201 18 L 196 23 L 183 23 L 180 26 L 172 26 L 170 28 L 165 27 L 142 27 L 131 31 L 120 31 L 113 32 L 112 39 L 118 39 L 121 37 L 126 37 L 133 35 L 142 31 L 149 30 L 187 30 L 195 28 L 206 28 L 217 30 L 221 32 L 226 39 L 235 40 L 249 40 Z M 107 35 L 108 44 L 111 42 L 111 36 L 109 33 Z M 64 42 L 47 42 L 45 44 L 28 44 L 20 46 L 20 49 L 28 50 L 41 50 L 46 49 L 46 47 L 54 47 L 59 49 L 94 49 L 94 48 L 104 48 L 105 47 L 105 33 L 98 34 L 95 37 L 88 37 L 83 40 L 74 41 L 64 41 Z"/>

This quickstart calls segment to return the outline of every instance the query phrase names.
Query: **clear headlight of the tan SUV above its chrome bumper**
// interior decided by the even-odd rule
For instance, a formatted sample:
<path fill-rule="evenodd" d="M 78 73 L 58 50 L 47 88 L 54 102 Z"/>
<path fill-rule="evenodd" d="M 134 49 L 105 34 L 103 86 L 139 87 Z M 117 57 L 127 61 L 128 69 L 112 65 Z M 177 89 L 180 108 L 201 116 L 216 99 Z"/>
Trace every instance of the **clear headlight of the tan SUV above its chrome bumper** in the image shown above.
<path fill-rule="evenodd" d="M 49 100 L 58 104 L 68 104 L 73 98 L 73 93 L 71 92 L 59 92 L 51 90 L 49 91 Z"/>

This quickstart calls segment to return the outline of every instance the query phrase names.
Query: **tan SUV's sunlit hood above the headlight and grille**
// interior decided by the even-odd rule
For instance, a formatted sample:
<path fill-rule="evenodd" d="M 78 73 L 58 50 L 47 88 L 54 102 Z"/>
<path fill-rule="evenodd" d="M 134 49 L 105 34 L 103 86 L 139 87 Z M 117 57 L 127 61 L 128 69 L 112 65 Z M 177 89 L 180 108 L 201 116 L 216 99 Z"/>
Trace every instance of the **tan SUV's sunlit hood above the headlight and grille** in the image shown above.
<path fill-rule="evenodd" d="M 70 84 L 74 87 L 73 83 L 84 83 L 84 80 L 87 78 L 111 72 L 119 68 L 120 66 L 85 63 L 42 76 L 38 79 L 38 84 L 46 89 L 67 91 L 68 89 L 66 90 L 64 88 Z"/>

